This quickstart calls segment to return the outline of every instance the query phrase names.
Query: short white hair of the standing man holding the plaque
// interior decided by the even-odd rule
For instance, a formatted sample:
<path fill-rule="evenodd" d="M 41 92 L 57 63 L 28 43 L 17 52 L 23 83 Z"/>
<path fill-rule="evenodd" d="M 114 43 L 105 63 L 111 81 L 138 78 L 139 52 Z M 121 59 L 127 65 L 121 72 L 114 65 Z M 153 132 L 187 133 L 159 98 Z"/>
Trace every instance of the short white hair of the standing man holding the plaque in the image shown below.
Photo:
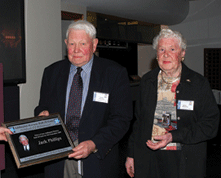
<path fill-rule="evenodd" d="M 66 38 L 68 38 L 71 29 L 74 30 L 84 30 L 92 39 L 96 38 L 96 28 L 90 22 L 86 20 L 78 20 L 72 22 L 67 29 Z"/>

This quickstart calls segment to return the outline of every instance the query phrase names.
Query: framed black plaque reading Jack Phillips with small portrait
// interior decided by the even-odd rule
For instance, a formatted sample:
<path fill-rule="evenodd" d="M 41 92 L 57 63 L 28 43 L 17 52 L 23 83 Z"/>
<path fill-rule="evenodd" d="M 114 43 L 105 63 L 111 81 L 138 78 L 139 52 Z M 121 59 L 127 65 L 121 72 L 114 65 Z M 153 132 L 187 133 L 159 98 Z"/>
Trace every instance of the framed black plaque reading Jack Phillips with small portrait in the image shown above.
<path fill-rule="evenodd" d="M 4 122 L 13 134 L 7 134 L 18 168 L 66 157 L 74 144 L 59 114 Z"/>

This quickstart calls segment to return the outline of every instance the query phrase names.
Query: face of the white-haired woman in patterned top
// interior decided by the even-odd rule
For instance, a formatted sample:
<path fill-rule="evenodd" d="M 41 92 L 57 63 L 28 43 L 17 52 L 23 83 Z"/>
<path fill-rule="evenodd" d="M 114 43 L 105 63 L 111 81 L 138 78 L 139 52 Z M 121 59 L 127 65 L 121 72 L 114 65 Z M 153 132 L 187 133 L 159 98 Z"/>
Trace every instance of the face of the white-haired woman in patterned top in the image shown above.
<path fill-rule="evenodd" d="M 185 51 L 179 46 L 176 38 L 162 38 L 157 48 L 158 65 L 163 72 L 171 77 L 179 75 L 182 57 Z"/>

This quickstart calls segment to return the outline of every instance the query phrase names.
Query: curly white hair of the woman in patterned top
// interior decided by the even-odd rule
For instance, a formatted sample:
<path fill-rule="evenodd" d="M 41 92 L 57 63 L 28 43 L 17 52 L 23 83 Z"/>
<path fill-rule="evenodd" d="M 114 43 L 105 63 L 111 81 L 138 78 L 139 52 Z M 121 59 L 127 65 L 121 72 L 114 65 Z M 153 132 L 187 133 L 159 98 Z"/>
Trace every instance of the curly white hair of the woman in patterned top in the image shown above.
<path fill-rule="evenodd" d="M 186 50 L 186 40 L 183 38 L 182 34 L 178 31 L 172 31 L 171 29 L 162 29 L 160 33 L 153 39 L 153 49 L 157 49 L 158 42 L 162 38 L 176 38 L 179 41 L 179 46 L 182 50 Z"/>

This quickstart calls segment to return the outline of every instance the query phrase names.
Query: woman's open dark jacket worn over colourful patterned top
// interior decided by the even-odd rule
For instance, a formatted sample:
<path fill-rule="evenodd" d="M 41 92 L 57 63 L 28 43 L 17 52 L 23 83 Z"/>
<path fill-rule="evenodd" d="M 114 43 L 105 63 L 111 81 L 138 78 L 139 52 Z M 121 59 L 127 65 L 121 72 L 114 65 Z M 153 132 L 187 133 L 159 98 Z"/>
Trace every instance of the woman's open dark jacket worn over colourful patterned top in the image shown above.
<path fill-rule="evenodd" d="M 148 177 L 150 155 L 155 154 L 146 146 L 151 138 L 157 104 L 157 76 L 159 68 L 148 72 L 140 83 L 136 103 L 136 121 L 129 139 L 128 156 L 135 161 L 135 177 Z M 219 110 L 209 82 L 200 74 L 182 64 L 180 84 L 176 89 L 178 100 L 194 101 L 194 109 L 177 109 L 176 131 L 171 131 L 173 142 L 182 144 L 181 171 L 183 178 L 202 178 L 206 170 L 206 141 L 215 137 L 219 126 Z"/>

